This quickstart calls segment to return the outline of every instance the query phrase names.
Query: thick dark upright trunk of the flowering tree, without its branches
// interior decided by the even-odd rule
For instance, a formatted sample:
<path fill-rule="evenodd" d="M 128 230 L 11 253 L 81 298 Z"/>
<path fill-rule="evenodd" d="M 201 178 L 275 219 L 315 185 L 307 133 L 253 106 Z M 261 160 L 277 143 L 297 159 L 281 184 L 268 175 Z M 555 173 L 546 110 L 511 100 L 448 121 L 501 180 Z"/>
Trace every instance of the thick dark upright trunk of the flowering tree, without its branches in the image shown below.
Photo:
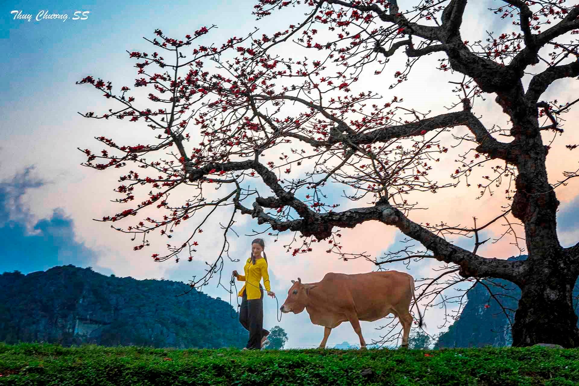
<path fill-rule="evenodd" d="M 573 287 L 577 280 L 575 259 L 559 244 L 556 211 L 559 201 L 548 182 L 536 102 L 525 99 L 522 84 L 499 93 L 497 102 L 511 116 L 511 135 L 516 144 L 516 193 L 512 215 L 525 225 L 529 257 L 526 273 L 517 283 L 521 300 L 512 326 L 512 345 L 554 343 L 565 348 L 579 346 Z"/>

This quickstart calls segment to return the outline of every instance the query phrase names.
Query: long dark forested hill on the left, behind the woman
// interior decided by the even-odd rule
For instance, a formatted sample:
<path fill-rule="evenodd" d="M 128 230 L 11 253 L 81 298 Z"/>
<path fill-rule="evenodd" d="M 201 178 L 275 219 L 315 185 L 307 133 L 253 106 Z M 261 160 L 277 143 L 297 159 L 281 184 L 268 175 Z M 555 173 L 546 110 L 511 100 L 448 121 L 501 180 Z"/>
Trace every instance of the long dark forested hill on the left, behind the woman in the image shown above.
<path fill-rule="evenodd" d="M 182 282 L 110 277 L 73 265 L 0 275 L 0 341 L 156 348 L 244 347 L 229 303 Z"/>

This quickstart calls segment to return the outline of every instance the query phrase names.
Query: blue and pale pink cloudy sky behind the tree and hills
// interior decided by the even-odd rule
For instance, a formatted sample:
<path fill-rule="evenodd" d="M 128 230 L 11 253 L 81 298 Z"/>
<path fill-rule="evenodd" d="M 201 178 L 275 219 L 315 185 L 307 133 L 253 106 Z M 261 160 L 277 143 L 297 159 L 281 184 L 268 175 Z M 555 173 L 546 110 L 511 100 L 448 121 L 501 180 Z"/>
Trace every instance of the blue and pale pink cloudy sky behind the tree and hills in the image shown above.
<path fill-rule="evenodd" d="M 93 75 L 112 80 L 116 85 L 131 84 L 136 75 L 134 60 L 129 58 L 126 51 L 152 51 L 152 46 L 143 37 L 154 38 L 153 30 L 156 28 L 169 36 L 185 36 L 204 25 L 215 24 L 218 29 L 212 30 L 206 42 L 222 42 L 230 36 L 243 36 L 255 26 L 271 34 L 276 28 L 287 28 L 279 25 L 295 23 L 301 17 L 301 9 L 289 9 L 277 19 L 271 17 L 255 21 L 251 15 L 254 3 L 248 0 L 175 1 L 171 2 L 170 8 L 164 3 L 143 6 L 135 1 L 27 1 L 3 2 L 0 5 L 0 48 L 8 53 L 0 58 L 3 68 L 0 71 L 0 82 L 3 84 L 0 89 L 3 112 L 0 116 L 0 273 L 19 270 L 27 274 L 57 265 L 74 264 L 91 266 L 105 275 L 136 279 L 165 278 L 189 282 L 194 275 L 203 275 L 205 262 L 212 262 L 219 255 L 223 241 L 219 221 L 224 221 L 225 214 L 204 226 L 204 236 L 199 240 L 203 241 L 203 248 L 195 260 L 189 263 L 182 259 L 177 264 L 172 259 L 162 263 L 151 259 L 151 253 L 164 251 L 166 238 L 151 236 L 152 247 L 133 251 L 137 241 L 131 241 L 130 234 L 111 229 L 109 223 L 93 220 L 119 212 L 119 205 L 111 202 L 118 198 L 112 190 L 118 186 L 118 174 L 111 170 L 96 171 L 81 166 L 86 156 L 77 147 L 100 150 L 100 142 L 94 139 L 100 135 L 113 138 L 118 143 L 148 143 L 151 142 L 151 133 L 126 122 L 89 120 L 80 116 L 77 112 L 104 112 L 115 105 L 94 89 L 76 85 L 75 82 Z M 477 36 L 479 39 L 485 38 L 481 28 L 470 28 L 471 25 L 486 25 L 487 30 L 501 31 L 500 19 L 486 10 L 486 5 L 492 3 L 480 2 L 478 6 L 469 3 L 466 23 L 463 23 L 461 30 L 464 38 L 473 41 Z M 18 12 L 13 13 L 14 10 L 32 14 L 31 21 L 15 19 Z M 36 21 L 36 15 L 43 10 L 67 14 L 68 19 Z M 72 20 L 75 11 L 87 11 L 86 19 L 80 17 Z M 418 111 L 431 110 L 433 114 L 446 112 L 445 106 L 452 102 L 448 81 L 456 80 L 456 76 L 442 76 L 434 69 L 440 57 L 434 54 L 424 58 L 411 79 L 395 90 L 396 95 L 408 101 L 406 107 Z M 393 57 L 387 67 L 390 71 L 384 71 L 384 78 L 374 76 L 367 79 L 371 82 L 368 84 L 378 86 L 384 97 L 391 98 L 394 91 L 389 91 L 387 86 L 392 78 L 386 73 L 393 73 L 395 67 L 405 60 L 404 54 Z M 526 79 L 528 82 L 528 77 Z M 578 94 L 577 81 L 558 81 L 545 93 L 544 99 L 565 101 Z M 473 111 L 482 116 L 481 120 L 487 127 L 493 124 L 508 127 L 506 117 L 493 102 L 494 96 L 485 95 L 485 98 L 485 101 L 477 101 Z M 577 155 L 565 149 L 566 144 L 579 143 L 579 130 L 574 127 L 577 113 L 569 113 L 566 119 L 565 138 L 558 139 L 552 145 L 548 156 L 549 181 L 552 183 L 562 179 L 563 171 L 578 168 Z M 457 128 L 454 134 L 464 134 L 465 130 Z M 549 139 L 545 137 L 544 140 Z M 448 179 L 455 168 L 453 157 L 456 157 L 456 152 L 449 153 L 441 161 L 440 169 L 433 171 L 433 174 Z M 575 244 L 579 239 L 578 184 L 572 179 L 557 191 L 561 202 L 558 230 L 564 247 Z M 461 184 L 435 196 L 420 196 L 421 206 L 428 209 L 414 212 L 411 219 L 416 222 L 436 223 L 444 220 L 471 225 L 472 216 L 477 216 L 479 223 L 486 222 L 500 213 L 504 198 L 501 194 L 495 194 L 476 200 L 476 190 Z M 330 189 L 329 193 L 338 197 L 341 189 Z M 144 191 L 140 196 L 138 194 L 135 195 L 137 200 L 144 197 Z M 179 192 L 175 193 L 175 197 L 185 200 L 187 194 Z M 228 289 L 230 272 L 233 269 L 243 270 L 243 260 L 250 252 L 252 237 L 244 235 L 258 229 L 248 216 L 238 220 L 236 231 L 239 237 L 230 236 L 230 256 L 241 259 L 241 262 L 231 263 L 225 259 L 222 284 Z M 126 219 L 120 226 L 128 226 L 132 222 Z M 186 240 L 194 226 L 193 223 L 180 226 L 174 237 Z M 501 231 L 504 227 L 497 225 L 486 233 L 486 237 L 496 238 Z M 342 234 L 341 241 L 345 248 L 365 251 L 372 258 L 408 245 L 403 242 L 400 232 L 378 222 L 366 222 L 354 229 L 345 229 Z M 284 328 L 289 337 L 287 348 L 314 347 L 321 341 L 324 329 L 312 325 L 306 312 L 284 314 L 281 322 L 276 320 L 277 308 L 284 302 L 291 280 L 301 277 L 303 282 L 315 282 L 328 272 L 364 273 L 376 267 L 362 259 L 349 262 L 339 260 L 336 255 L 325 253 L 323 245 L 316 246 L 312 253 L 291 256 L 282 247 L 291 237 L 291 234 L 283 234 L 277 242 L 267 237 L 265 240 L 271 286 L 278 302 L 270 298 L 264 300 L 264 325 L 265 328 L 274 325 Z M 472 249 L 471 239 L 456 238 L 453 241 L 463 248 Z M 175 244 L 179 242 L 175 241 Z M 494 244 L 488 242 L 479 248 L 478 253 L 505 259 L 519 254 L 518 249 L 506 239 Z M 437 267 L 430 262 L 412 263 L 408 272 L 416 279 L 433 277 L 433 269 Z M 390 268 L 406 270 L 401 263 Z M 229 293 L 218 286 L 217 280 L 204 286 L 203 292 L 229 300 Z M 234 300 L 233 304 L 236 304 Z M 424 312 L 424 307 L 421 307 L 421 312 Z M 443 324 L 443 315 L 441 309 L 427 310 L 428 333 L 435 334 L 448 328 L 448 325 L 439 328 Z M 382 332 L 376 328 L 384 325 L 384 321 L 362 322 L 361 325 L 368 343 L 380 339 Z M 342 323 L 332 331 L 328 347 L 343 341 L 359 343 L 349 323 Z"/>

